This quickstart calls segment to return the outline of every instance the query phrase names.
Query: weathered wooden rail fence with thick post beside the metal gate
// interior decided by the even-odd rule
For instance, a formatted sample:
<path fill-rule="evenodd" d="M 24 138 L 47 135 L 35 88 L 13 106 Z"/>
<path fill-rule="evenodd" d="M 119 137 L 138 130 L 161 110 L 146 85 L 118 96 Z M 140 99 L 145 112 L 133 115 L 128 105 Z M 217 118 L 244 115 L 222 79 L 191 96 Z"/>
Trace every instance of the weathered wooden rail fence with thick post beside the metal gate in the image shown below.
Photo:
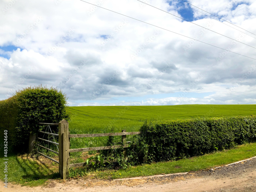
<path fill-rule="evenodd" d="M 70 167 L 80 167 L 87 165 L 86 162 L 83 163 L 75 163 L 75 164 L 69 164 L 69 156 L 70 153 L 73 152 L 82 152 L 82 151 L 99 151 L 99 150 L 107 150 L 107 149 L 117 149 L 117 148 L 123 148 L 123 154 L 124 158 L 126 158 L 126 150 L 129 147 L 127 145 L 128 142 L 126 142 L 126 135 L 138 135 L 141 132 L 126 132 L 126 130 L 122 130 L 120 133 L 96 133 L 96 134 L 70 134 L 69 128 L 68 128 L 68 122 L 63 119 L 58 124 L 54 123 L 39 123 L 40 125 L 59 125 L 59 174 L 62 178 L 66 179 L 68 176 L 68 171 Z M 45 133 L 45 132 L 44 132 Z M 57 134 L 55 134 L 57 135 Z M 113 145 L 113 146 L 103 146 L 103 147 L 88 147 L 88 148 L 79 148 L 79 149 L 70 149 L 70 138 L 76 138 L 76 137 L 103 137 L 103 136 L 122 136 L 122 145 Z M 56 143 L 54 143 L 56 144 Z M 44 147 L 48 151 L 52 151 L 46 147 Z M 41 153 L 40 153 L 41 154 Z M 52 158 L 44 155 L 45 157 L 51 159 Z M 116 159 L 111 160 L 104 160 L 103 162 L 114 162 Z M 55 161 L 56 162 L 56 161 Z M 94 162 L 94 163 L 100 163 L 100 162 Z M 91 162 L 90 162 L 91 164 Z"/>

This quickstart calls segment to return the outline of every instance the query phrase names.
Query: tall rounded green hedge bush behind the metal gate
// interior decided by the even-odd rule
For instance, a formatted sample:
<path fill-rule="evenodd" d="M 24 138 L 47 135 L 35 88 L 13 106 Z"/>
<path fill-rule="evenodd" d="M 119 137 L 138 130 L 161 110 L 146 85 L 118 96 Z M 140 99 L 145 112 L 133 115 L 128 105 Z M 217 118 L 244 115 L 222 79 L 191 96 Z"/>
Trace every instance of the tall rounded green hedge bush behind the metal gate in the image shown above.
<path fill-rule="evenodd" d="M 52 87 L 28 87 L 0 101 L 0 131 L 2 135 L 4 130 L 8 130 L 8 152 L 26 151 L 29 133 L 36 134 L 42 129 L 39 122 L 69 120 L 66 108 L 66 94 Z"/>

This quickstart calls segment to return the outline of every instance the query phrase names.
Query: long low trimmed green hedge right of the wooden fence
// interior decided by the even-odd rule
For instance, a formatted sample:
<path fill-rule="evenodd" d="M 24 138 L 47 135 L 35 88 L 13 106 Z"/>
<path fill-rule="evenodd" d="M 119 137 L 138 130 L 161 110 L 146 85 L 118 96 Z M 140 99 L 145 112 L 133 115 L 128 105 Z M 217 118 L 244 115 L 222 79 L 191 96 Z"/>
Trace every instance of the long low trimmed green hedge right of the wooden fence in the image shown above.
<path fill-rule="evenodd" d="M 256 116 L 145 122 L 140 131 L 140 162 L 167 161 L 255 141 Z"/>

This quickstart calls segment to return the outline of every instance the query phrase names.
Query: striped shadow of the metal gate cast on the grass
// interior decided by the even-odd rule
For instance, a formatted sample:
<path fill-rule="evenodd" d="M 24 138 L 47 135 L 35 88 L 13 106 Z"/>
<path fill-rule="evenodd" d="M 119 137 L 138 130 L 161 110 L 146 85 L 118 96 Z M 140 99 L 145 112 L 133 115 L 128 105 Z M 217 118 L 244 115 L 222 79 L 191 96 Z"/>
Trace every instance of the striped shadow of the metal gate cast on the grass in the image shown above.
<path fill-rule="evenodd" d="M 16 156 L 16 161 L 23 169 L 22 178 L 28 181 L 60 178 L 58 172 L 53 170 L 54 168 L 50 168 L 43 162 L 38 163 L 35 158 L 22 155 L 20 158 Z"/>

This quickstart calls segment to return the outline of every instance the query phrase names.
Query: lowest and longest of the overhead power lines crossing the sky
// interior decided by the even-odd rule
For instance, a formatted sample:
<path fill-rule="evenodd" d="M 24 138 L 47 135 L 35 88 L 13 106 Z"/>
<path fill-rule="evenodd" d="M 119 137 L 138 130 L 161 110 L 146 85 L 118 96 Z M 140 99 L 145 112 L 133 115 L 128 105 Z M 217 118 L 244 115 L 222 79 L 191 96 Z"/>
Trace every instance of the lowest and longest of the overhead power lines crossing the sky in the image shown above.
<path fill-rule="evenodd" d="M 94 6 L 100 7 L 100 6 L 98 6 L 98 5 L 95 5 L 95 4 L 92 4 L 92 3 L 89 3 L 89 2 L 86 2 L 86 1 L 83 1 L 83 0 L 79 0 L 79 1 L 82 1 L 82 2 L 84 2 L 84 3 L 88 3 L 88 4 L 91 4 L 91 5 L 94 5 Z M 117 13 L 117 14 L 119 14 L 119 15 L 123 15 L 123 16 L 125 16 L 125 17 L 129 17 L 129 18 L 131 18 L 131 19 L 134 19 L 134 20 L 137 20 L 137 21 L 140 21 L 140 22 L 143 22 L 143 23 L 146 23 L 146 24 L 148 24 L 148 25 L 152 25 L 152 26 L 154 26 L 154 27 L 158 27 L 158 26 L 156 26 L 156 25 L 153 25 L 153 24 L 150 24 L 150 23 L 144 22 L 144 21 L 139 20 L 139 19 L 135 19 L 135 18 L 133 18 L 133 17 L 130 17 L 130 16 L 127 16 L 127 15 L 124 15 L 124 14 L 121 14 L 121 13 L 118 13 L 118 12 L 115 12 L 115 11 L 112 11 L 112 10 L 107 9 L 107 8 L 104 8 L 104 7 L 100 7 L 100 8 L 105 9 L 105 10 L 108 10 L 108 11 L 111 11 L 111 12 L 113 12 L 113 13 Z M 164 29 L 164 30 L 166 30 L 166 31 L 170 31 L 170 30 L 165 29 L 165 28 L 162 28 L 162 27 L 158 27 L 158 28 L 160 28 L 160 29 Z M 170 32 L 175 33 L 175 34 L 178 34 L 178 35 L 181 35 L 181 36 L 183 36 L 183 37 L 187 37 L 187 38 L 189 38 L 189 39 L 193 39 L 193 40 L 195 40 L 195 41 L 202 42 L 202 43 L 204 43 L 204 44 L 207 44 L 207 45 L 210 45 L 210 46 L 213 46 L 213 47 L 217 47 L 217 46 L 215 46 L 215 45 L 208 44 L 208 43 L 206 43 L 206 42 L 203 42 L 203 41 L 200 41 L 200 40 L 197 40 L 197 39 L 194 39 L 194 38 L 191 38 L 191 37 L 188 37 L 188 36 L 185 36 L 185 35 L 182 35 L 182 34 L 176 33 L 176 32 L 174 32 L 174 31 L 170 31 Z M 228 51 L 228 52 L 231 52 L 231 53 L 234 53 L 234 54 L 237 54 L 237 55 L 241 55 L 241 56 L 244 56 L 244 57 L 247 57 L 247 58 L 253 59 L 253 60 L 256 60 L 255 58 L 248 57 L 248 56 L 245 56 L 245 55 L 242 55 L 242 54 L 239 54 L 239 53 L 236 53 L 236 52 L 233 52 L 233 51 L 227 50 L 227 49 L 223 49 L 223 48 L 220 48 L 220 47 L 217 47 L 217 48 L 222 49 L 222 50 L 225 50 L 225 51 Z"/>

